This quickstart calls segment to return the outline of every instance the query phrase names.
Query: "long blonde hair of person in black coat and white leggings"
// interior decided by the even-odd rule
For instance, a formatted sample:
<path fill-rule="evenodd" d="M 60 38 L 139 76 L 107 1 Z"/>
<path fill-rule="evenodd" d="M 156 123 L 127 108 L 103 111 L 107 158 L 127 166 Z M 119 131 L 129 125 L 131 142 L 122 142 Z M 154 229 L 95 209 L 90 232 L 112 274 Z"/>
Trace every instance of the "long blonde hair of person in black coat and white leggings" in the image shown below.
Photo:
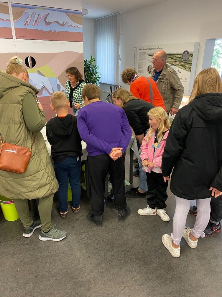
<path fill-rule="evenodd" d="M 189 103 L 194 97 L 206 93 L 222 93 L 222 82 L 215 68 L 203 69 L 195 78 Z"/>

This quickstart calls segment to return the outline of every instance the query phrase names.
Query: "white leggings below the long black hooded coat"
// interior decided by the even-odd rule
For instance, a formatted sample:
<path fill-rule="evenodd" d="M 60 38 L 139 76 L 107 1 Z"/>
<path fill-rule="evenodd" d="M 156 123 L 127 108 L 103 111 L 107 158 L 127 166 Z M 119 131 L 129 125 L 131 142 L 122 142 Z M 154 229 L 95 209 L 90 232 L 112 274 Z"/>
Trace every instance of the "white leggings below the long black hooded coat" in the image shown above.
<path fill-rule="evenodd" d="M 210 219 L 210 198 L 197 200 L 197 217 L 192 235 L 196 238 L 204 237 L 204 230 Z M 190 200 L 179 198 L 176 196 L 176 209 L 173 216 L 173 233 L 171 236 L 175 244 L 180 244 L 184 227 L 186 225 L 186 217 L 190 209 Z"/>

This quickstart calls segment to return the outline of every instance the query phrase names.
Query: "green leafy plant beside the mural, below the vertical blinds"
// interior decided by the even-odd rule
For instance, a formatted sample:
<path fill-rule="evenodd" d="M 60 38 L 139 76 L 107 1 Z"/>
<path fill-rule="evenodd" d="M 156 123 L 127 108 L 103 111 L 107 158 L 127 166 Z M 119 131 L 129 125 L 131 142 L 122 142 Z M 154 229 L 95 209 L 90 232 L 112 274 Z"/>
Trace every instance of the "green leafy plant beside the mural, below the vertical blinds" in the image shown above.
<path fill-rule="evenodd" d="M 91 56 L 90 60 L 87 58 L 84 60 L 84 74 L 86 83 L 94 83 L 96 86 L 99 85 L 99 79 L 101 78 L 101 73 L 99 72 L 99 67 L 95 65 L 96 59 Z"/>

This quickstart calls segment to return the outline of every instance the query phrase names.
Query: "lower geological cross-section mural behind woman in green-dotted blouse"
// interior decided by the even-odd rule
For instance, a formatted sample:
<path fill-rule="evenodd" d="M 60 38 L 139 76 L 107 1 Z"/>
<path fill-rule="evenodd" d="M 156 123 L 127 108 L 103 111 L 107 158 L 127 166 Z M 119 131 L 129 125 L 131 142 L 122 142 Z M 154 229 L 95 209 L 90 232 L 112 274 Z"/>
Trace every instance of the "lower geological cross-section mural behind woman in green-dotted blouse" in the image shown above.
<path fill-rule="evenodd" d="M 61 53 L 2 53 L 0 60 L 1 71 L 5 71 L 7 61 L 12 56 L 20 57 L 24 66 L 27 56 L 32 56 L 36 60 L 34 68 L 25 67 L 29 73 L 29 83 L 39 90 L 37 97 L 43 105 L 46 121 L 48 121 L 55 116 L 55 112 L 50 108 L 51 94 L 56 91 L 65 92 L 65 82 L 67 80 L 65 69 L 75 66 L 84 74 L 83 53 L 72 51 Z M 72 113 L 71 108 L 70 113 Z"/>

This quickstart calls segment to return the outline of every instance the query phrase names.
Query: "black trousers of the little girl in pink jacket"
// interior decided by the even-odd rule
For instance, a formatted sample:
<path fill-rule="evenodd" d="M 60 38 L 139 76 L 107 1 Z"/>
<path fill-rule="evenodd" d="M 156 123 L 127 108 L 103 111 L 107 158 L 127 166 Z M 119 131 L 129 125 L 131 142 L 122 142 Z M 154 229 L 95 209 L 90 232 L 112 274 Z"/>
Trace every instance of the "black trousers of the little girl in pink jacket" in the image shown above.
<path fill-rule="evenodd" d="M 163 176 L 161 173 L 156 173 L 151 171 L 147 174 L 147 188 L 148 188 L 148 198 L 147 204 L 150 208 L 165 208 L 167 205 L 165 201 L 167 200 L 167 187 L 168 181 L 164 182 Z"/>

